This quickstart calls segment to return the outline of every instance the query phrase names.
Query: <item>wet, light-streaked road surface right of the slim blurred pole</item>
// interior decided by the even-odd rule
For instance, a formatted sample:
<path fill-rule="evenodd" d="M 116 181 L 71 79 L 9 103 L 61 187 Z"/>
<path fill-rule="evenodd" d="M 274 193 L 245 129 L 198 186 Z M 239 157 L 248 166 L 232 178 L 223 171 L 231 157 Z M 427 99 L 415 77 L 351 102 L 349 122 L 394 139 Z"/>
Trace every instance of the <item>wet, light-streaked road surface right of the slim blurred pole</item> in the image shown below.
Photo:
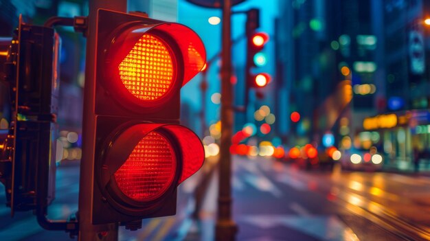
<path fill-rule="evenodd" d="M 430 179 L 234 160 L 238 240 L 430 240 Z"/>

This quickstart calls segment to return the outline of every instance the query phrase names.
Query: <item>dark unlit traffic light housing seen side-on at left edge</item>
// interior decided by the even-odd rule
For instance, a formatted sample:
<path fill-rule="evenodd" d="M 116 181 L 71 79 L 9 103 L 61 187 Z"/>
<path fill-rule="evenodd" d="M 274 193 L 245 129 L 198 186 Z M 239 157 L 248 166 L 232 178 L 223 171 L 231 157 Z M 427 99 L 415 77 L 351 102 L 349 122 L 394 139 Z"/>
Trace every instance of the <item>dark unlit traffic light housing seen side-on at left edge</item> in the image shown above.
<path fill-rule="evenodd" d="M 55 190 L 60 40 L 21 16 L 14 36 L 0 40 L 0 181 L 12 215 L 35 210 L 40 221 Z"/>

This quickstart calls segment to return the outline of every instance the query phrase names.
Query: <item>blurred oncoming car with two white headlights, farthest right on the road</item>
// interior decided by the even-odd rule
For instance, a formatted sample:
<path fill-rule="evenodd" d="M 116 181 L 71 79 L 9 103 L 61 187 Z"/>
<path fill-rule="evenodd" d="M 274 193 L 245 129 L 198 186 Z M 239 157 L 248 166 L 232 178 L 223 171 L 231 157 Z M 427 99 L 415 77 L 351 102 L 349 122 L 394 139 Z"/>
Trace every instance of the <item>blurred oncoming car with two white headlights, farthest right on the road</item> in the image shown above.
<path fill-rule="evenodd" d="M 340 161 L 344 169 L 361 171 L 380 171 L 384 162 L 376 148 L 343 150 Z"/>

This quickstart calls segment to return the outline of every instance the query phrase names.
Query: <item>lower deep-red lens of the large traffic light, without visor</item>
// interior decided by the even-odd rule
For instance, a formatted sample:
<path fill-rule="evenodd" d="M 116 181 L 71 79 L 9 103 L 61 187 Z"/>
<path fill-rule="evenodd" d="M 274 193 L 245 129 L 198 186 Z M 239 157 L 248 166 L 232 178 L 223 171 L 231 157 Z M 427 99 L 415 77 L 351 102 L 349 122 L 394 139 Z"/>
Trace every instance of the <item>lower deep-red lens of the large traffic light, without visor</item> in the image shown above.
<path fill-rule="evenodd" d="M 120 190 L 133 200 L 154 200 L 172 184 L 176 166 L 172 144 L 154 131 L 135 146 L 128 159 L 115 172 L 115 181 Z"/>

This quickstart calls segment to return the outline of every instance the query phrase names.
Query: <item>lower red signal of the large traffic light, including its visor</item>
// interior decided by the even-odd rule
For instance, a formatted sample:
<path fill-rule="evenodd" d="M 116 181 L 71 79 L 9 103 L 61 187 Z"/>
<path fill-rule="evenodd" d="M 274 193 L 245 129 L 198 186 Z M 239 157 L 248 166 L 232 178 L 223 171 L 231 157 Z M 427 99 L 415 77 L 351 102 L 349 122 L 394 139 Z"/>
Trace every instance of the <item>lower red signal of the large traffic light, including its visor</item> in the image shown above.
<path fill-rule="evenodd" d="M 100 185 L 121 208 L 166 198 L 205 159 L 199 137 L 176 124 L 125 124 L 106 145 Z"/>

